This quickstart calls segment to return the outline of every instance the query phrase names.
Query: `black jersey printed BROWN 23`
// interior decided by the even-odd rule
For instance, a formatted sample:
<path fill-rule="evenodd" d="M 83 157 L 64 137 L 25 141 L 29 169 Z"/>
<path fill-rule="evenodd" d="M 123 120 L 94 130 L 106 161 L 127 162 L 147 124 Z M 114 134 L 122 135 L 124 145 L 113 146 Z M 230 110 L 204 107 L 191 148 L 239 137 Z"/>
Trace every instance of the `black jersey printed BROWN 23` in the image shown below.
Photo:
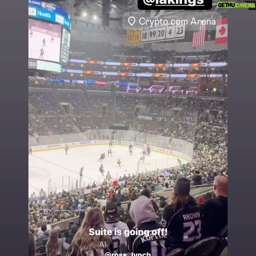
<path fill-rule="evenodd" d="M 167 228 L 169 247 L 186 250 L 201 239 L 201 212 L 197 202 L 191 198 L 175 210 L 173 203 L 165 206 L 161 225 Z"/>

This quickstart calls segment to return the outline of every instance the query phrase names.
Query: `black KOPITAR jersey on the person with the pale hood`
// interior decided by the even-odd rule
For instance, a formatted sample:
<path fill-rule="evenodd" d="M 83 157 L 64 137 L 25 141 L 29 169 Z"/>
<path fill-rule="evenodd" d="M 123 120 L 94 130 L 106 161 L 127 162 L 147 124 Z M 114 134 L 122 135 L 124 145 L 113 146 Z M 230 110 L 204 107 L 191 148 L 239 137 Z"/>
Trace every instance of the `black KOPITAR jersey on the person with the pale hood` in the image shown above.
<path fill-rule="evenodd" d="M 153 230 L 163 227 L 155 221 L 142 223 L 139 230 L 149 230 L 149 235 L 129 235 L 127 238 L 127 250 L 136 254 L 150 253 L 152 256 L 165 256 L 169 253 L 167 248 L 169 241 L 165 233 L 152 234 Z M 132 229 L 135 230 L 135 229 Z"/>

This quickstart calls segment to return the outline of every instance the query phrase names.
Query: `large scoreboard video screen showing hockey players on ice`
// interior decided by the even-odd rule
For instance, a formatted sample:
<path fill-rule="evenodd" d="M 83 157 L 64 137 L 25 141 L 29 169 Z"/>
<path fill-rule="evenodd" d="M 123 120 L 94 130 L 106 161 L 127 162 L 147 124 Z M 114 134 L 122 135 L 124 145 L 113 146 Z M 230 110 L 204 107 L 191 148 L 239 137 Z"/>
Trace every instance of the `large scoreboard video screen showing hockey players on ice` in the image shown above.
<path fill-rule="evenodd" d="M 60 61 L 62 26 L 28 19 L 28 58 Z"/>

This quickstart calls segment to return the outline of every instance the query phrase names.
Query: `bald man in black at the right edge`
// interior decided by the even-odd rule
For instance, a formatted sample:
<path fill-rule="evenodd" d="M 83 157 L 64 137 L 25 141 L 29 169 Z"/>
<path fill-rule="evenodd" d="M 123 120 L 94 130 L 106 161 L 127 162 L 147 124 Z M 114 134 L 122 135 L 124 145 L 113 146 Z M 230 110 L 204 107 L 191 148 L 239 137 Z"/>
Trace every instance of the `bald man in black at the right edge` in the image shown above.
<path fill-rule="evenodd" d="M 202 214 L 202 238 L 218 236 L 228 224 L 228 178 L 218 175 L 214 179 L 216 198 L 199 205 Z"/>

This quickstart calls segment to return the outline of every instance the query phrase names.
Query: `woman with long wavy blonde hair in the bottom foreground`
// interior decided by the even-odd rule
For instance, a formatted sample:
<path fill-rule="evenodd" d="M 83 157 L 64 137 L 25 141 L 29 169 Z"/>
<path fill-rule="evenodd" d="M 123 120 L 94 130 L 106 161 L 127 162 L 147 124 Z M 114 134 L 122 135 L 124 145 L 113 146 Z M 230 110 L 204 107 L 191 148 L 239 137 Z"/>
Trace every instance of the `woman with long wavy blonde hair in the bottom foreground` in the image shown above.
<path fill-rule="evenodd" d="M 87 212 L 81 228 L 73 238 L 69 256 L 104 256 L 106 252 L 113 253 L 111 237 L 105 234 L 91 235 L 90 229 L 94 232 L 107 230 L 100 208 L 92 208 Z"/>

